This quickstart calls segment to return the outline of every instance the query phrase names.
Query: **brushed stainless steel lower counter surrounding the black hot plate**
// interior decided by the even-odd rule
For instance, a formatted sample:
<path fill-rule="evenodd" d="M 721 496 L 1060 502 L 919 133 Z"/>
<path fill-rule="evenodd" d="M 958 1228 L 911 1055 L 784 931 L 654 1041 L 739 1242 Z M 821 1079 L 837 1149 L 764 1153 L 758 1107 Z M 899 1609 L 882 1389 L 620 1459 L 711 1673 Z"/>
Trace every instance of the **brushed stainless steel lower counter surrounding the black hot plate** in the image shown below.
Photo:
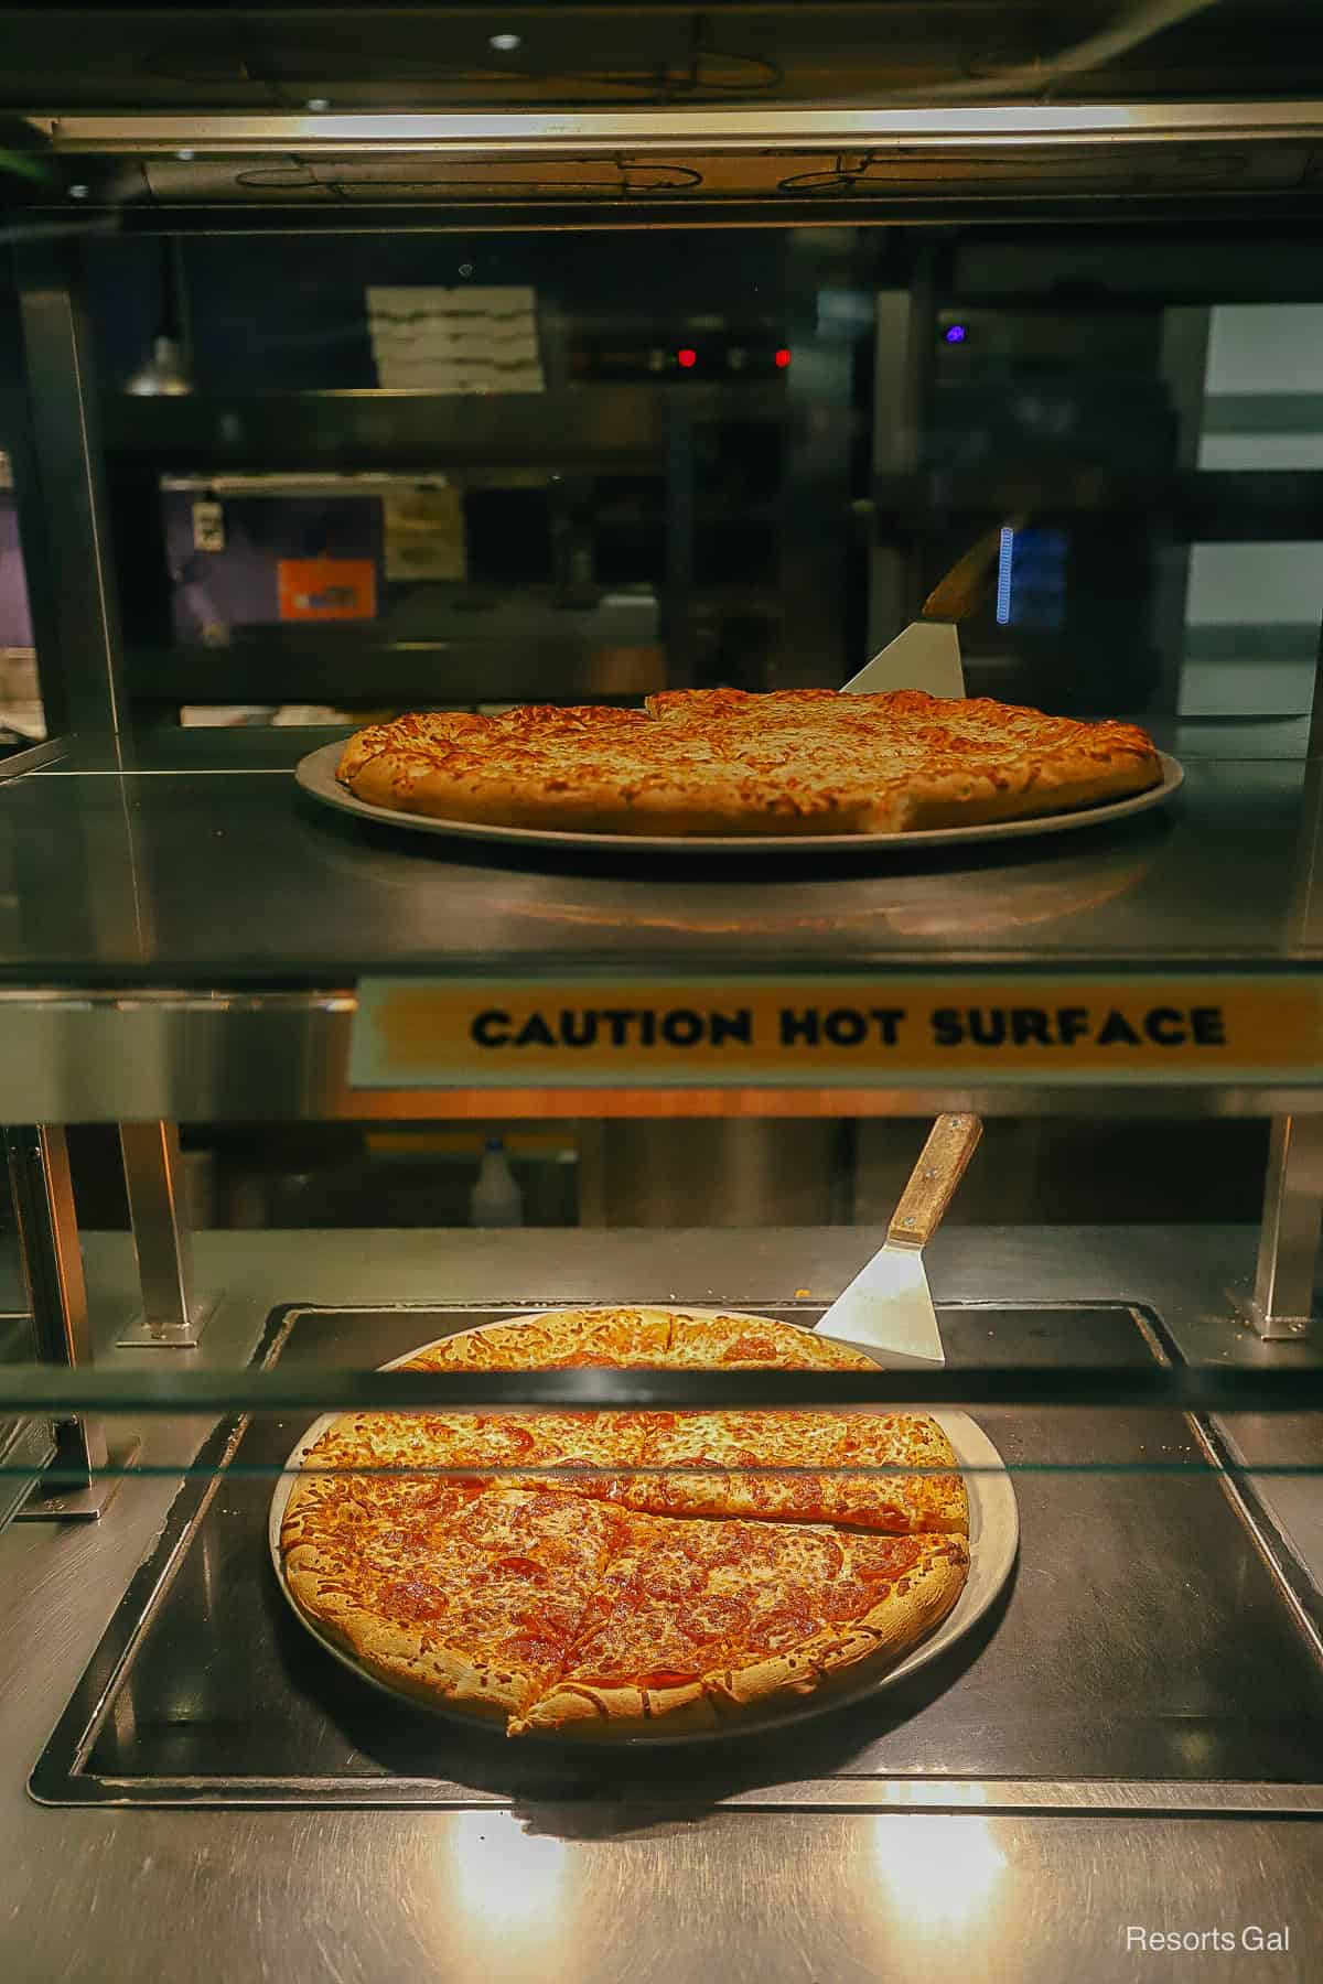
<path fill-rule="evenodd" d="M 214 1234 L 200 1270 L 224 1288 L 200 1357 L 234 1363 L 276 1302 L 520 1302 L 635 1298 L 776 1303 L 829 1296 L 869 1230 L 700 1234 Z M 934 1248 L 938 1300 L 1127 1296 L 1164 1315 L 1186 1355 L 1299 1363 L 1228 1317 L 1248 1230 L 952 1230 Z M 131 1300 L 125 1242 L 89 1240 L 101 1329 Z M 141 1357 L 145 1353 L 113 1353 Z M 177 1355 L 177 1353 L 173 1353 Z M 1240 1428 L 1246 1444 L 1254 1428 Z M 147 1426 L 147 1452 L 169 1428 Z M 1299 1456 L 1317 1428 L 1293 1428 Z M 179 1442 L 171 1436 L 171 1450 Z M 1295 1542 L 1323 1536 L 1309 1490 L 1277 1482 Z M 419 1974 L 504 1984 L 617 1978 L 760 1984 L 887 1978 L 1162 1974 L 1311 1978 L 1323 1932 L 1319 1831 L 1267 1817 L 1154 1817 L 1125 1790 L 1061 1788 L 1049 1815 L 980 1811 L 980 1786 L 914 1780 L 912 1807 L 676 1811 L 625 1796 L 589 1809 L 48 1811 L 24 1780 L 127 1573 L 157 1532 L 167 1482 L 129 1484 L 99 1530 L 0 1538 L 0 1972 L 20 1980 L 165 1984 L 280 1976 L 343 1984 Z M 1172 1647 L 1172 1661 L 1182 1649 Z M 924 1809 L 940 1799 L 938 1809 Z M 1105 1809 L 1099 1809 L 1099 1801 Z M 1135 1803 L 1135 1801 L 1131 1801 Z M 1121 1809 L 1117 1809 L 1121 1807 Z M 1127 1950 L 1127 1932 L 1289 1928 L 1291 1948 Z"/>

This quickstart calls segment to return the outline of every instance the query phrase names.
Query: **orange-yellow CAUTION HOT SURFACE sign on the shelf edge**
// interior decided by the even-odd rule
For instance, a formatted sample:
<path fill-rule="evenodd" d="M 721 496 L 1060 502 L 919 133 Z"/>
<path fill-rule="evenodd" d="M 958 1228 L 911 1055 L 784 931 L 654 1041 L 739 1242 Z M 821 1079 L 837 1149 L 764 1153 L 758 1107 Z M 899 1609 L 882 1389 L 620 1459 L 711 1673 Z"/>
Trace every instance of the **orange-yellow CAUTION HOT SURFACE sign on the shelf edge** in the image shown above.
<path fill-rule="evenodd" d="M 417 980 L 359 988 L 355 1087 L 1323 1079 L 1323 980 Z"/>

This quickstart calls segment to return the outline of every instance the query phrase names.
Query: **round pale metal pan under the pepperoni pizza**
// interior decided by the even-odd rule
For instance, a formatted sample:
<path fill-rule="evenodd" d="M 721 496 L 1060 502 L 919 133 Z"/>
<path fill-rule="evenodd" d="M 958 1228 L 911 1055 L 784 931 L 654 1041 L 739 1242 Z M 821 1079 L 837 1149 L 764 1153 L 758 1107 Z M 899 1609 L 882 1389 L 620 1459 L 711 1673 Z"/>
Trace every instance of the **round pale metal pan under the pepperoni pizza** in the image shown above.
<path fill-rule="evenodd" d="M 659 1307 L 659 1303 L 653 1303 Z M 506 1327 L 508 1323 L 538 1321 L 543 1315 L 553 1315 L 555 1309 L 528 1309 L 522 1315 L 504 1315 L 500 1323 L 478 1325 L 472 1331 L 452 1331 L 452 1335 L 482 1335 L 486 1327 Z M 738 1309 L 698 1309 L 684 1305 L 684 1315 L 740 1315 Z M 762 1317 L 752 1317 L 760 1321 Z M 795 1325 L 789 1325 L 795 1327 Z M 813 1331 L 809 1331 L 811 1335 Z M 391 1363 L 381 1365 L 383 1371 L 397 1371 L 407 1365 L 413 1357 L 422 1351 L 434 1349 L 438 1343 L 448 1341 L 446 1337 L 432 1337 L 428 1343 L 419 1343 L 415 1349 L 405 1351 L 403 1357 L 393 1357 Z M 885 1359 L 879 1357 L 879 1363 Z M 280 1526 L 286 1514 L 286 1502 L 294 1490 L 294 1482 L 303 1466 L 303 1456 L 317 1444 L 321 1434 L 341 1419 L 341 1413 L 323 1413 L 307 1432 L 296 1442 L 290 1458 L 286 1460 L 286 1470 L 276 1482 L 276 1492 L 272 1496 L 272 1508 L 268 1516 L 268 1548 L 272 1553 L 272 1565 L 276 1569 L 276 1581 L 290 1605 L 294 1617 L 300 1625 L 311 1633 L 311 1637 L 321 1645 L 341 1667 L 347 1667 L 351 1674 L 357 1674 L 367 1686 L 375 1688 L 379 1694 L 391 1696 L 393 1702 L 409 1708 L 421 1708 L 424 1714 L 442 1716 L 448 1722 L 462 1722 L 466 1728 L 482 1728 L 496 1734 L 500 1742 L 506 1740 L 500 1724 L 486 1722 L 480 1716 L 472 1716 L 462 1708 L 452 1708 L 446 1702 L 419 1702 L 417 1696 L 407 1696 L 403 1690 L 391 1688 L 389 1682 L 381 1680 L 377 1674 L 367 1673 L 359 1661 L 353 1659 L 343 1647 L 335 1645 L 329 1635 L 321 1633 L 317 1625 L 294 1603 L 290 1585 L 286 1583 L 284 1557 L 280 1551 Z M 970 1575 L 964 1581 L 964 1589 L 952 1609 L 946 1613 L 942 1623 L 916 1647 L 912 1647 L 902 1661 L 883 1673 L 869 1673 L 859 1678 L 857 1684 L 839 1682 L 823 1688 L 819 1694 L 809 1696 L 805 1702 L 778 1704 L 764 1714 L 742 1716 L 740 1722 L 732 1722 L 730 1730 L 690 1730 L 682 1736 L 666 1736 L 664 1724 L 659 1732 L 633 1732 L 615 1734 L 603 1730 L 601 1736 L 575 1734 L 573 1738 L 557 1738 L 553 1734 L 530 1734 L 518 1738 L 522 1744 L 559 1744 L 573 1750 L 601 1750 L 601 1748 L 635 1748 L 647 1746 L 649 1750 L 661 1744 L 712 1744 L 722 1742 L 728 1736 L 742 1736 L 760 1728 L 787 1728 L 791 1722 L 801 1722 L 807 1716 L 825 1714 L 831 1708 L 839 1708 L 851 1700 L 863 1700 L 881 1692 L 883 1688 L 893 1688 L 899 1680 L 906 1680 L 910 1674 L 938 1661 L 956 1641 L 972 1633 L 978 1621 L 992 1609 L 998 1601 L 1002 1589 L 1006 1587 L 1020 1550 L 1020 1506 L 1016 1502 L 1016 1488 L 1012 1476 L 1002 1460 L 1000 1452 L 988 1438 L 982 1426 L 978 1426 L 968 1413 L 944 1413 L 934 1411 L 930 1415 L 946 1432 L 956 1460 L 964 1470 L 964 1486 L 970 1498 Z"/>

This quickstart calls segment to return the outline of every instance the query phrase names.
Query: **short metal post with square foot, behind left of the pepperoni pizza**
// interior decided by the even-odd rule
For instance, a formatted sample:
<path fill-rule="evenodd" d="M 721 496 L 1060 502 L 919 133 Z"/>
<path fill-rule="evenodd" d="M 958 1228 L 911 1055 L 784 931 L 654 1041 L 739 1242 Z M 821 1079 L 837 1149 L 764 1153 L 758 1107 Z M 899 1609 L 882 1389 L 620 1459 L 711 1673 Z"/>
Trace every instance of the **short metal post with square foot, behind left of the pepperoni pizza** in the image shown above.
<path fill-rule="evenodd" d="M 192 1286 L 192 1226 L 175 1123 L 121 1123 L 133 1246 L 143 1313 L 119 1337 L 123 1345 L 192 1349 L 216 1298 Z"/>

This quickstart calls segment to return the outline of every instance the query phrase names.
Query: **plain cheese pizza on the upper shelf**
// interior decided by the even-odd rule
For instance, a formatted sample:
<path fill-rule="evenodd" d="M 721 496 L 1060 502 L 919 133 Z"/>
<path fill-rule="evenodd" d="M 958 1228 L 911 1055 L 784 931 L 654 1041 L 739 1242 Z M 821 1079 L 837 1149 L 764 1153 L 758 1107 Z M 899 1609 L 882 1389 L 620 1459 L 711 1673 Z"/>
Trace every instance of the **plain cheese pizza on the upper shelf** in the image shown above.
<path fill-rule="evenodd" d="M 643 710 L 434 712 L 349 740 L 337 778 L 391 811 L 623 835 L 914 833 L 1063 813 L 1162 780 L 1135 724 L 918 688 L 668 688 Z"/>

